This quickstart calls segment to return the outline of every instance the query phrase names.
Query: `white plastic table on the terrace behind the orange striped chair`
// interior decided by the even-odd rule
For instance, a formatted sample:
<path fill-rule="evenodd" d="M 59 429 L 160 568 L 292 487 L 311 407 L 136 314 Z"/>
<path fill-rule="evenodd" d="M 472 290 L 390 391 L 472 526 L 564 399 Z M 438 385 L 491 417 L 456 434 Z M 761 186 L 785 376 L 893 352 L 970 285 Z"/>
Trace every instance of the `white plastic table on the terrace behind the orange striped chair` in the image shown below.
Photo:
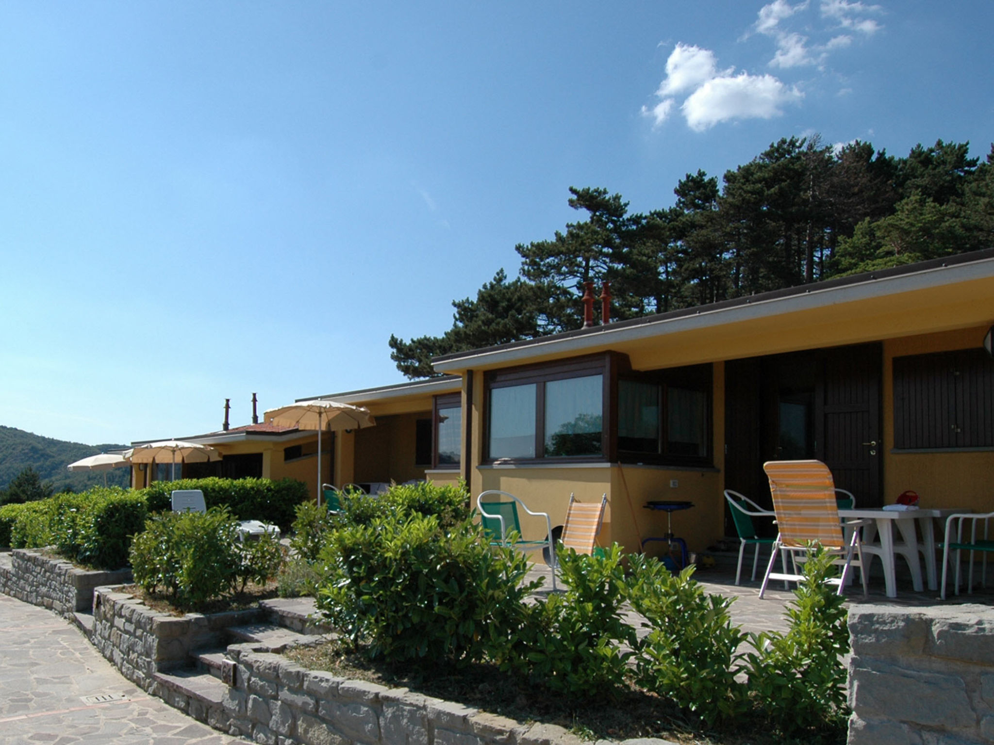
<path fill-rule="evenodd" d="M 938 577 L 935 569 L 935 518 L 943 519 L 953 513 L 964 512 L 962 510 L 879 510 L 879 509 L 856 509 L 840 510 L 840 518 L 870 519 L 874 521 L 877 532 L 880 534 L 881 561 L 884 564 L 884 585 L 889 598 L 898 596 L 897 578 L 895 576 L 894 562 L 894 526 L 897 525 L 907 551 L 902 551 L 911 566 L 911 585 L 915 592 L 922 592 L 924 589 L 921 582 L 921 564 L 918 561 L 918 551 L 925 554 L 925 575 L 928 581 L 929 590 L 938 589 Z M 969 511 L 966 511 L 969 512 Z M 918 546 L 917 533 L 914 529 L 914 522 L 917 521 L 921 527 L 921 545 Z M 872 548 L 873 546 L 871 546 Z"/>

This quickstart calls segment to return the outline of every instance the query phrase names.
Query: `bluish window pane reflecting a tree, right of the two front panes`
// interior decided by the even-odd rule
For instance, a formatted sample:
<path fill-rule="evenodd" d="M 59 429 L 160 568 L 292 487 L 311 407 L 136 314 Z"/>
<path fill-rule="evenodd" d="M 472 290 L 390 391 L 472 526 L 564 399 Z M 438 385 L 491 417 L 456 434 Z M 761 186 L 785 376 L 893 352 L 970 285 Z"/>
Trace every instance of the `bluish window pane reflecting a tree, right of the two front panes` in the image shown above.
<path fill-rule="evenodd" d="M 546 457 L 600 455 L 601 375 L 546 383 Z"/>

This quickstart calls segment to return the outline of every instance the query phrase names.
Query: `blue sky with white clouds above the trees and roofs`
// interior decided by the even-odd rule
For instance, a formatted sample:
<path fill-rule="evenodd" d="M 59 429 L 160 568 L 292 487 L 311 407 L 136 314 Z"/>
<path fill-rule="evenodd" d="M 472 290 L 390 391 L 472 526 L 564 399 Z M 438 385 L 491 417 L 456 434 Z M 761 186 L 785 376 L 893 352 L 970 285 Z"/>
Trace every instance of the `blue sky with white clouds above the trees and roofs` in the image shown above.
<path fill-rule="evenodd" d="M 673 203 L 783 136 L 994 140 L 994 3 L 12 2 L 0 424 L 191 435 L 400 382 L 568 188 Z"/>

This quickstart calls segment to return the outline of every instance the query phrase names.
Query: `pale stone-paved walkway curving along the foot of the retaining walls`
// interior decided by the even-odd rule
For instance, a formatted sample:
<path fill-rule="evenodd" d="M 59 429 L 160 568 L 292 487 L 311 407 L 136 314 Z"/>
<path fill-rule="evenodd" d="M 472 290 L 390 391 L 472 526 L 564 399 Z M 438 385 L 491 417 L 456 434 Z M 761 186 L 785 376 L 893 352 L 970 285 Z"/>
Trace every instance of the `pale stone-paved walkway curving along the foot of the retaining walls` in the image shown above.
<path fill-rule="evenodd" d="M 87 696 L 117 700 L 87 699 Z M 123 697 L 121 697 L 123 696 Z M 80 631 L 0 594 L 0 742 L 5 745 L 229 745 L 126 680 Z"/>

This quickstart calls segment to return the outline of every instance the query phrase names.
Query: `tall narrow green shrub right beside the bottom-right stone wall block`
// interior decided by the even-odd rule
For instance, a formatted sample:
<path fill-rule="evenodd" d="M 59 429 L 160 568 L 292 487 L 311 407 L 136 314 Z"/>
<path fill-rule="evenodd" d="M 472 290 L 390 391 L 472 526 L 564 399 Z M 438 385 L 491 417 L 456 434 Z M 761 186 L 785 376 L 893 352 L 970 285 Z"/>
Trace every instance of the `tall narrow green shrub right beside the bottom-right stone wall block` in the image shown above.
<path fill-rule="evenodd" d="M 845 598 L 826 583 L 832 556 L 821 549 L 804 562 L 804 581 L 787 608 L 786 634 L 750 635 L 756 652 L 746 655 L 751 694 L 782 733 L 838 727 L 848 716 L 846 669 L 849 651 Z"/>

